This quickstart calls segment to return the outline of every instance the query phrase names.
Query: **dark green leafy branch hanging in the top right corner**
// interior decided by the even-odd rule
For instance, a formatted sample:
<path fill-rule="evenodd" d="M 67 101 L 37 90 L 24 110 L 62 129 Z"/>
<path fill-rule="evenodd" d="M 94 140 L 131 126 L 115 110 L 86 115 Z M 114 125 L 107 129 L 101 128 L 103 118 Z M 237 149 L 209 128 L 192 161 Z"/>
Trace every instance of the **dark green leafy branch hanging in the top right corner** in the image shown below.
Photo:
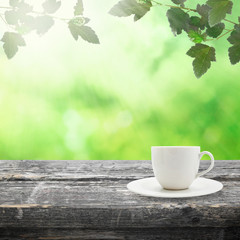
<path fill-rule="evenodd" d="M 185 6 L 186 1 L 171 0 L 175 5 L 170 5 L 156 0 L 121 0 L 109 13 L 118 17 L 134 15 L 134 21 L 137 21 L 154 6 L 168 7 L 166 15 L 173 34 L 177 36 L 186 32 L 189 39 L 195 43 L 187 55 L 194 58 L 193 70 L 197 78 L 208 71 L 211 62 L 216 61 L 214 47 L 203 42 L 219 40 L 231 34 L 227 39 L 232 44 L 228 50 L 229 59 L 232 64 L 240 62 L 240 17 L 238 23 L 226 18 L 232 13 L 233 2 L 207 0 L 205 4 L 197 4 L 196 9 L 193 9 Z M 234 28 L 226 28 L 223 22 L 233 24 Z"/>

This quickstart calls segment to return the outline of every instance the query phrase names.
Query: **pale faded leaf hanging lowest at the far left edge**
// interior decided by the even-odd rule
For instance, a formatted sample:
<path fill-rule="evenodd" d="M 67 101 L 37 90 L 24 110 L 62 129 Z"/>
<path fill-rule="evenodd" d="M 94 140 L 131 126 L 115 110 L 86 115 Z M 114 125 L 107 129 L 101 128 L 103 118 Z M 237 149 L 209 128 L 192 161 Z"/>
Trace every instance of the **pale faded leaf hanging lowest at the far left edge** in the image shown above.
<path fill-rule="evenodd" d="M 17 53 L 19 46 L 26 46 L 23 37 L 15 32 L 5 32 L 1 41 L 4 42 L 3 49 L 8 59 Z"/>

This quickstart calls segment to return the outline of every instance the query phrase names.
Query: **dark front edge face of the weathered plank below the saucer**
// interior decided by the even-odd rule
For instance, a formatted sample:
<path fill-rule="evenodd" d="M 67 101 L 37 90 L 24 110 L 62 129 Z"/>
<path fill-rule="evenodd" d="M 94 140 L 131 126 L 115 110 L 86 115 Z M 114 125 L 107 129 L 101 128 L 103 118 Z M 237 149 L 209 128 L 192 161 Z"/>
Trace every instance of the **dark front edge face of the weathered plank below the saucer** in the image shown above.
<path fill-rule="evenodd" d="M 76 229 L 121 229 L 164 227 L 237 227 L 239 210 L 209 208 L 176 209 L 116 209 L 116 208 L 60 208 L 25 207 L 5 208 L 1 214 L 0 228 L 76 228 Z M 148 213 L 149 212 L 149 213 Z M 8 216 L 7 216 L 8 214 Z M 184 214 L 184 216 L 183 216 Z M 236 215 L 235 215 L 236 214 Z"/>

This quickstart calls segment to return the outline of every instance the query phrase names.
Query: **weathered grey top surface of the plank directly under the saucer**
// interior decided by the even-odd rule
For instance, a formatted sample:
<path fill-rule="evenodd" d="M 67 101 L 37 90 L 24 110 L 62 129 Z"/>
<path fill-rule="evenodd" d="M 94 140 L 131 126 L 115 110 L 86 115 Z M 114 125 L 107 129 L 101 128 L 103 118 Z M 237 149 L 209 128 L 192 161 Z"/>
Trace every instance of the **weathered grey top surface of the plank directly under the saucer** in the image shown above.
<path fill-rule="evenodd" d="M 51 182 L 0 182 L 0 207 L 15 204 L 47 204 L 91 208 L 101 206 L 143 207 L 162 203 L 190 203 L 205 205 L 240 205 L 239 182 L 222 182 L 221 191 L 200 197 L 166 199 L 145 197 L 128 191 L 129 180 L 115 181 L 51 181 Z M 165 206 L 163 206 L 165 207 Z"/>

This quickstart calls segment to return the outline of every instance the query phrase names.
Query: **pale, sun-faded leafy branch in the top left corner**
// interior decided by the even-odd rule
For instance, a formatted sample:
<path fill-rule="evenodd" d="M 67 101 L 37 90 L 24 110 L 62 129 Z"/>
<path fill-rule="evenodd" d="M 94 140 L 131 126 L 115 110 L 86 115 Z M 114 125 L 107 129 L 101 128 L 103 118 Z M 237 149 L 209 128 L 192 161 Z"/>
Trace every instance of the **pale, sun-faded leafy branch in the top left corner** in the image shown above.
<path fill-rule="evenodd" d="M 5 12 L 0 14 L 1 20 L 9 31 L 3 34 L 1 41 L 7 57 L 10 59 L 17 53 L 19 47 L 26 46 L 24 35 L 36 31 L 38 35 L 48 32 L 55 20 L 65 22 L 75 40 L 81 37 L 90 43 L 99 44 L 99 39 L 92 28 L 87 26 L 89 18 L 83 16 L 82 0 L 77 0 L 71 18 L 54 16 L 61 7 L 61 0 L 45 0 L 42 3 L 42 12 L 34 11 L 33 6 L 24 0 L 9 0 L 9 6 L 0 6 Z"/>

